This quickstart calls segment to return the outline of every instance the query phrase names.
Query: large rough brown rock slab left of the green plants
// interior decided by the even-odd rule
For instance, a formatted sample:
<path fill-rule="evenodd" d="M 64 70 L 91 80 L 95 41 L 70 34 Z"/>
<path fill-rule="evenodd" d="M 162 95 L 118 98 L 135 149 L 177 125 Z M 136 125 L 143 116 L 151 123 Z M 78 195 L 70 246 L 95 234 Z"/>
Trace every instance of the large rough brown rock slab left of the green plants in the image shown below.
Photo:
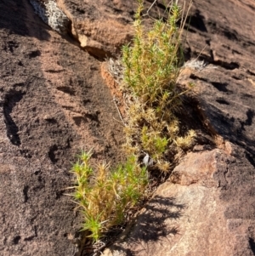
<path fill-rule="evenodd" d="M 0 254 L 70 256 L 71 162 L 91 148 L 119 162 L 122 126 L 98 60 L 29 1 L 1 1 L 0 17 Z"/>

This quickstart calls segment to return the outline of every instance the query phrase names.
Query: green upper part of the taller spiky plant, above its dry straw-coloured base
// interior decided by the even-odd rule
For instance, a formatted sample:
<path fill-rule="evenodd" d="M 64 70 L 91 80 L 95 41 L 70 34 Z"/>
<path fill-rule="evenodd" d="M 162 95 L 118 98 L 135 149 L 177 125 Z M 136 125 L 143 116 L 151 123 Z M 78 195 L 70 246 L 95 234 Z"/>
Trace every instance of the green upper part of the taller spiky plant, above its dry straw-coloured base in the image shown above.
<path fill-rule="evenodd" d="M 181 30 L 176 25 L 180 8 L 173 3 L 167 22 L 156 20 L 150 31 L 142 25 L 143 1 L 133 24 L 135 36 L 132 47 L 122 48 L 124 82 L 144 104 L 161 112 L 175 100 L 179 63 Z"/>

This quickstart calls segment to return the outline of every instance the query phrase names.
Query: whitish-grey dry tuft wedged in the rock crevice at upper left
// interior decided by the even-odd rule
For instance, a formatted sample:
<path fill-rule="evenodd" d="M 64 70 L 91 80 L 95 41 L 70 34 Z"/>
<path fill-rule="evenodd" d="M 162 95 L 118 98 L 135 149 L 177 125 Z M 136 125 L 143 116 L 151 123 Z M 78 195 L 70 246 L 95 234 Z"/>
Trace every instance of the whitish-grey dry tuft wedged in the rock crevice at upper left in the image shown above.
<path fill-rule="evenodd" d="M 30 0 L 35 13 L 46 23 L 52 27 L 54 31 L 59 34 L 66 34 L 71 21 L 68 17 L 59 9 L 57 3 L 53 0 L 41 2 L 40 0 Z"/>

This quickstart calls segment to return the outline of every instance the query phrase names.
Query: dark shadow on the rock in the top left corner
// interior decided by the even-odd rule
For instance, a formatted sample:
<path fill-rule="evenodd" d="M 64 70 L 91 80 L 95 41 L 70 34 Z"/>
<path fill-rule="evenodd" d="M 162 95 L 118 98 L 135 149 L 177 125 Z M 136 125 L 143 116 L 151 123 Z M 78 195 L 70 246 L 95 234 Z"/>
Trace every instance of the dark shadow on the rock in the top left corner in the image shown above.
<path fill-rule="evenodd" d="M 50 37 L 47 26 L 39 17 L 32 19 L 33 16 L 31 14 L 34 15 L 34 12 L 28 0 L 1 0 L 0 30 L 6 29 L 9 31 L 9 34 L 18 34 L 20 36 L 37 37 L 39 40 L 47 40 Z M 31 23 L 31 26 L 35 26 L 35 23 L 41 23 L 41 30 L 31 35 L 27 23 Z"/>

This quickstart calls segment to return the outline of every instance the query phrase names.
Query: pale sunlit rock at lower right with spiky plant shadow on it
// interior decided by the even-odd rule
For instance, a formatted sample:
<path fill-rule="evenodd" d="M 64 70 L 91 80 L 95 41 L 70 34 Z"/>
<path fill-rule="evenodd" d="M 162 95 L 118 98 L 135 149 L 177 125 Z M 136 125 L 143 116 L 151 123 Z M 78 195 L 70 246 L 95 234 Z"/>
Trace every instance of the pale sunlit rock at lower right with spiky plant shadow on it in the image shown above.
<path fill-rule="evenodd" d="M 253 255 L 252 171 L 222 150 L 190 152 L 105 255 Z"/>

